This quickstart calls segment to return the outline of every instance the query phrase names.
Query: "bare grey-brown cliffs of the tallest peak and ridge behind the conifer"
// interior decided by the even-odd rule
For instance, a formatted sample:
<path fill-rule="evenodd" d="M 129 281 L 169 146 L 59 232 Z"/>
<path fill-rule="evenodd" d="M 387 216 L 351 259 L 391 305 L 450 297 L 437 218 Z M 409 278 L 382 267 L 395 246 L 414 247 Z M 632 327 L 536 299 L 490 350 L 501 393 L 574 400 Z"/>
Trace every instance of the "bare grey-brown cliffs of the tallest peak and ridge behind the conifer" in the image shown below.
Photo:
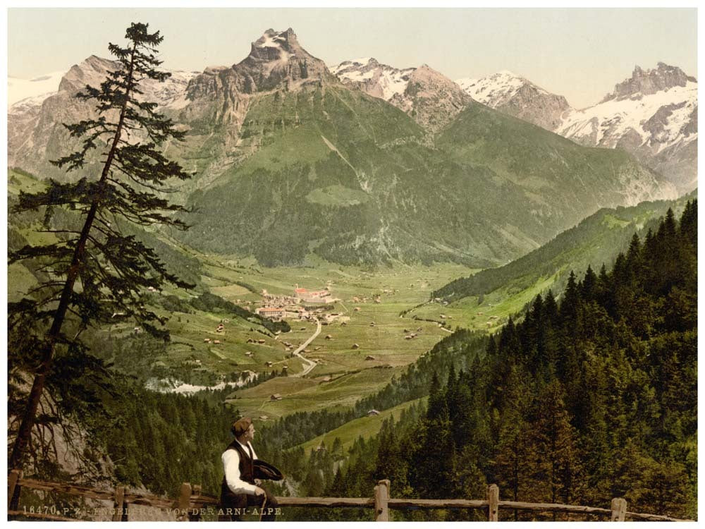
<path fill-rule="evenodd" d="M 85 85 L 98 87 L 117 63 L 90 56 L 61 79 L 59 90 L 31 104 L 12 107 L 8 126 L 8 162 L 44 176 L 72 178 L 48 163 L 66 154 L 75 141 L 63 123 L 94 116 L 94 103 L 73 97 Z M 231 67 L 206 68 L 202 73 L 173 71 L 164 83 L 147 80 L 140 99 L 157 102 L 159 111 L 189 130 L 183 148 L 185 166 L 216 178 L 226 167 L 257 150 L 243 142 L 240 130 L 250 99 L 272 90 L 339 83 L 323 61 L 303 49 L 293 30 L 267 30 L 252 42 L 250 54 Z M 21 102 L 20 102 L 21 103 Z M 19 104 L 18 104 L 19 105 Z M 217 129 L 217 139 L 214 131 Z M 197 159 L 201 162 L 187 162 Z M 204 181 L 203 185 L 207 182 Z"/>

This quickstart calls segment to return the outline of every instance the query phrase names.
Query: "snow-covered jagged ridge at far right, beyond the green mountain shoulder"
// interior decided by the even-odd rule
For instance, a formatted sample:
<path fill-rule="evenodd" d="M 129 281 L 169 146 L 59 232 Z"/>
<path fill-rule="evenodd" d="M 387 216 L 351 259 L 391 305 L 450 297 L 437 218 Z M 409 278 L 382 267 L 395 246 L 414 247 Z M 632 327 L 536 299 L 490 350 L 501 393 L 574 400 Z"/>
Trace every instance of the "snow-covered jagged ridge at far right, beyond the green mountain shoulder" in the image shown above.
<path fill-rule="evenodd" d="M 508 71 L 458 83 L 473 99 L 581 145 L 631 152 L 680 193 L 697 186 L 697 80 L 680 68 L 637 66 L 586 109 L 573 109 L 564 97 Z"/>

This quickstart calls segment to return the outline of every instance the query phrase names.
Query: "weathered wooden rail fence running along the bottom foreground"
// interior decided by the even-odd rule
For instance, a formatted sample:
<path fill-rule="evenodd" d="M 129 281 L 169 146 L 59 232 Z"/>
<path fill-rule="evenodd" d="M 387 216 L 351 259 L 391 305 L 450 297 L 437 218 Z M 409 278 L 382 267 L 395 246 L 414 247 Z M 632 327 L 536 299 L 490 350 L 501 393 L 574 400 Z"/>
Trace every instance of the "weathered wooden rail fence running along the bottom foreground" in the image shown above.
<path fill-rule="evenodd" d="M 102 490 L 92 487 L 82 487 L 63 482 L 47 482 L 25 479 L 21 470 L 12 470 L 8 475 L 8 518 L 24 517 L 52 521 L 75 521 L 66 516 L 66 509 L 57 512 L 56 509 L 20 509 L 18 506 L 20 488 L 56 492 L 89 499 L 112 501 L 111 511 L 113 521 L 128 521 L 128 506 L 143 505 L 164 509 L 173 513 L 180 521 L 199 521 L 208 512 L 217 512 L 219 499 L 209 494 L 202 494 L 200 485 L 191 486 L 183 483 L 178 499 L 168 499 L 150 494 L 133 494 L 125 487 L 118 486 L 114 490 Z M 658 514 L 632 513 L 627 511 L 627 501 L 623 498 L 612 500 L 611 508 L 589 507 L 582 505 L 534 504 L 524 501 L 504 501 L 499 499 L 499 487 L 489 485 L 486 499 L 402 499 L 389 497 L 390 482 L 381 480 L 374 487 L 374 494 L 369 498 L 314 498 L 314 497 L 277 497 L 280 507 L 321 507 L 338 508 L 353 507 L 373 509 L 374 521 L 389 521 L 391 509 L 409 511 L 418 509 L 482 509 L 489 521 L 499 521 L 499 510 L 533 511 L 536 513 L 572 513 L 599 516 L 610 521 L 692 521 L 661 516 Z"/>

